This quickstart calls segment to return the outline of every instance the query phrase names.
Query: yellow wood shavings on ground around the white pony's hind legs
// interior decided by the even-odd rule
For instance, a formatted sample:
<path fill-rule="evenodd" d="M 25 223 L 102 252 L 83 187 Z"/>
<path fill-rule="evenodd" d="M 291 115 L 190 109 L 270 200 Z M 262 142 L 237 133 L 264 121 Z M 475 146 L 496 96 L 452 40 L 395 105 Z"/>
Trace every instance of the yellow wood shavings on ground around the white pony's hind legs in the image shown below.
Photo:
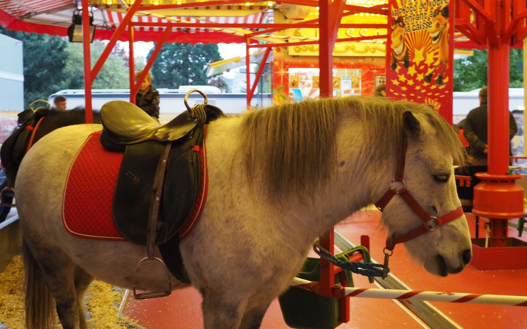
<path fill-rule="evenodd" d="M 23 286 L 24 268 L 22 257 L 18 255 L 0 273 L 0 324 L 10 329 L 24 329 Z M 97 329 L 130 327 L 128 318 L 117 315 L 123 295 L 124 289 L 94 280 L 85 297 L 88 326 Z"/>

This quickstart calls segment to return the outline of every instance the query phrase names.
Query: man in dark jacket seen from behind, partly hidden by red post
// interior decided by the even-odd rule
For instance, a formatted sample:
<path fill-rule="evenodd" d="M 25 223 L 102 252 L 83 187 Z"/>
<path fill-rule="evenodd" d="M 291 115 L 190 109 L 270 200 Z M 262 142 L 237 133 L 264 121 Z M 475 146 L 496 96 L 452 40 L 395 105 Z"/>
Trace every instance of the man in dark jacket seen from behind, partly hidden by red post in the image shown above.
<path fill-rule="evenodd" d="M 514 137 L 518 131 L 516 121 L 511 112 L 509 112 L 509 140 Z M 474 108 L 466 116 L 463 123 L 463 135 L 469 142 L 469 164 L 472 165 L 486 165 L 487 153 L 489 146 L 487 145 L 487 87 L 480 90 L 480 106 Z M 509 155 L 511 151 L 509 148 Z"/>

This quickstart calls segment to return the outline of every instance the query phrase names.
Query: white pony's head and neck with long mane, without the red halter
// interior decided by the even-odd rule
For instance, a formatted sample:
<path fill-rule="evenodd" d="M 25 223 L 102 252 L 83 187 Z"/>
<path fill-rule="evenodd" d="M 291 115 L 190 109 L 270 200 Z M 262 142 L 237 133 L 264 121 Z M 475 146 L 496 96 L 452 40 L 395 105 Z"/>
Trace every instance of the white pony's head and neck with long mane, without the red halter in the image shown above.
<path fill-rule="evenodd" d="M 463 148 L 452 127 L 426 105 L 326 98 L 247 113 L 241 127 L 240 154 L 253 191 L 283 208 L 300 200 L 295 215 L 318 219 L 309 222 L 318 231 L 306 234 L 316 236 L 377 202 L 391 186 L 401 154 L 406 188 L 425 214 L 441 219 L 461 206 L 453 164 L 463 162 Z M 383 221 L 389 236 L 404 236 L 425 222 L 401 195 L 386 204 Z M 461 271 L 472 257 L 465 216 L 433 228 L 407 241 L 409 252 L 433 274 Z"/>

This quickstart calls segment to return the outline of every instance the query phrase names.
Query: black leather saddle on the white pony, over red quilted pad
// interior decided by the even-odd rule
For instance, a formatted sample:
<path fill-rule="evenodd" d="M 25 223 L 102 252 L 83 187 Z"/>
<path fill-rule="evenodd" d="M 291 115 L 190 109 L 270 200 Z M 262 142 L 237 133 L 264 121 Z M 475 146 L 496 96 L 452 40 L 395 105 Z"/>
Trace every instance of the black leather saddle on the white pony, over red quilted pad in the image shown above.
<path fill-rule="evenodd" d="M 204 126 L 220 116 L 223 113 L 218 107 L 199 104 L 160 124 L 132 103 L 104 104 L 101 143 L 111 151 L 124 151 L 115 186 L 113 221 L 128 241 L 151 244 L 147 240 L 154 220 L 155 245 L 165 261 L 164 251 L 173 254 L 178 248 L 178 230 L 200 192 L 197 151 L 203 143 Z"/>

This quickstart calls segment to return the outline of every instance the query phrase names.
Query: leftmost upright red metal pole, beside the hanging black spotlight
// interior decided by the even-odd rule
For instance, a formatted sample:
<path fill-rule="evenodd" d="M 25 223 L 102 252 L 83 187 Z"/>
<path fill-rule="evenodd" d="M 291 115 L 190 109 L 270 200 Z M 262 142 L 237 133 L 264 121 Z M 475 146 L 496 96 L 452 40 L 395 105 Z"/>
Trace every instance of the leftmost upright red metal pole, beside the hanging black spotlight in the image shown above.
<path fill-rule="evenodd" d="M 92 79 L 90 62 L 90 12 L 88 0 L 82 0 L 82 50 L 84 56 L 84 108 L 86 123 L 93 123 Z"/>

